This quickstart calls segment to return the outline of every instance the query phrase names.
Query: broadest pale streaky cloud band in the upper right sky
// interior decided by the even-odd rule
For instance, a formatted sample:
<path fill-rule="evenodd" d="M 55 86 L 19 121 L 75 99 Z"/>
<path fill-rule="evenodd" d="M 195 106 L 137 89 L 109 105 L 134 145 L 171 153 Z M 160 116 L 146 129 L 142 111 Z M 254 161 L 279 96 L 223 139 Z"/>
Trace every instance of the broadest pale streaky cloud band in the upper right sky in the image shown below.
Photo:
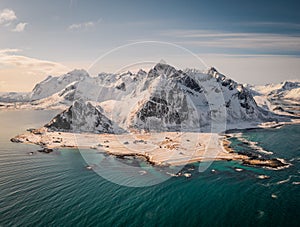
<path fill-rule="evenodd" d="M 173 30 L 162 33 L 176 43 L 200 47 L 300 51 L 300 36 L 271 33 L 230 33 L 209 30 Z"/>

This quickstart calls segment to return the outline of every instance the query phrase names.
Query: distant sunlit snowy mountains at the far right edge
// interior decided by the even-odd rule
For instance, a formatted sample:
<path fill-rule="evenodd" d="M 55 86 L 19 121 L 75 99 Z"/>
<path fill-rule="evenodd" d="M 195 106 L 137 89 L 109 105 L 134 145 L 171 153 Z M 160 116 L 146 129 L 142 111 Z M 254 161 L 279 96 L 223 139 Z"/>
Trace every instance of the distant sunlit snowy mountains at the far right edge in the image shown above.
<path fill-rule="evenodd" d="M 257 104 L 278 114 L 300 115 L 300 81 L 248 86 Z"/>

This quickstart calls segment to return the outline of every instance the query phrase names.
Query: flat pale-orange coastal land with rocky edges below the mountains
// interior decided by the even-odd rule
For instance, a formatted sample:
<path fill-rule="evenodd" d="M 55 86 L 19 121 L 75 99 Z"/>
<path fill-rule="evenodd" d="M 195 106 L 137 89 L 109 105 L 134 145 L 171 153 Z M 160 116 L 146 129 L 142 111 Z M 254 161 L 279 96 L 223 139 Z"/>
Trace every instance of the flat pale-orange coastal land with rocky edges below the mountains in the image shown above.
<path fill-rule="evenodd" d="M 40 152 L 58 148 L 94 149 L 115 157 L 144 158 L 156 166 L 182 166 L 205 161 L 240 161 L 245 165 L 279 169 L 288 166 L 279 159 L 257 159 L 236 152 L 230 146 L 230 134 L 160 132 L 131 134 L 93 134 L 32 129 L 11 139 L 36 144 Z"/>

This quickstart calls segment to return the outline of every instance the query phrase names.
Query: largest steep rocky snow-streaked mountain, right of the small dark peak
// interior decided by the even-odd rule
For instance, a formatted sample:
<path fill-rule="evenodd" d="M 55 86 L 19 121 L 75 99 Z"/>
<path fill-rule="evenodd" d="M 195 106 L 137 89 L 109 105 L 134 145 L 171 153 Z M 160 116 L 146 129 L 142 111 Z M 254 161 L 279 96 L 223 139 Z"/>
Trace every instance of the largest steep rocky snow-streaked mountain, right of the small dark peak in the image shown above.
<path fill-rule="evenodd" d="M 139 101 L 130 127 L 161 130 L 197 130 L 209 127 L 218 116 L 226 123 L 272 120 L 257 106 L 251 92 L 216 69 L 208 73 L 181 71 L 158 64 L 142 86 L 151 90 Z"/>

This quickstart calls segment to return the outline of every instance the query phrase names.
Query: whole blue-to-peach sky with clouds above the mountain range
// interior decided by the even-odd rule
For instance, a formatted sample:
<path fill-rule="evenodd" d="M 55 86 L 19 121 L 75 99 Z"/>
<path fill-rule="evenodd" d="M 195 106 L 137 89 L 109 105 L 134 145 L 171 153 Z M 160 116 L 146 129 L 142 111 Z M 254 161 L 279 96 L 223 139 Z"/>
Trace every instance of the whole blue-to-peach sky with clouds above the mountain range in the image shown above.
<path fill-rule="evenodd" d="M 240 83 L 300 78 L 297 0 L 1 0 L 0 92 L 48 75 L 216 67 Z"/>

